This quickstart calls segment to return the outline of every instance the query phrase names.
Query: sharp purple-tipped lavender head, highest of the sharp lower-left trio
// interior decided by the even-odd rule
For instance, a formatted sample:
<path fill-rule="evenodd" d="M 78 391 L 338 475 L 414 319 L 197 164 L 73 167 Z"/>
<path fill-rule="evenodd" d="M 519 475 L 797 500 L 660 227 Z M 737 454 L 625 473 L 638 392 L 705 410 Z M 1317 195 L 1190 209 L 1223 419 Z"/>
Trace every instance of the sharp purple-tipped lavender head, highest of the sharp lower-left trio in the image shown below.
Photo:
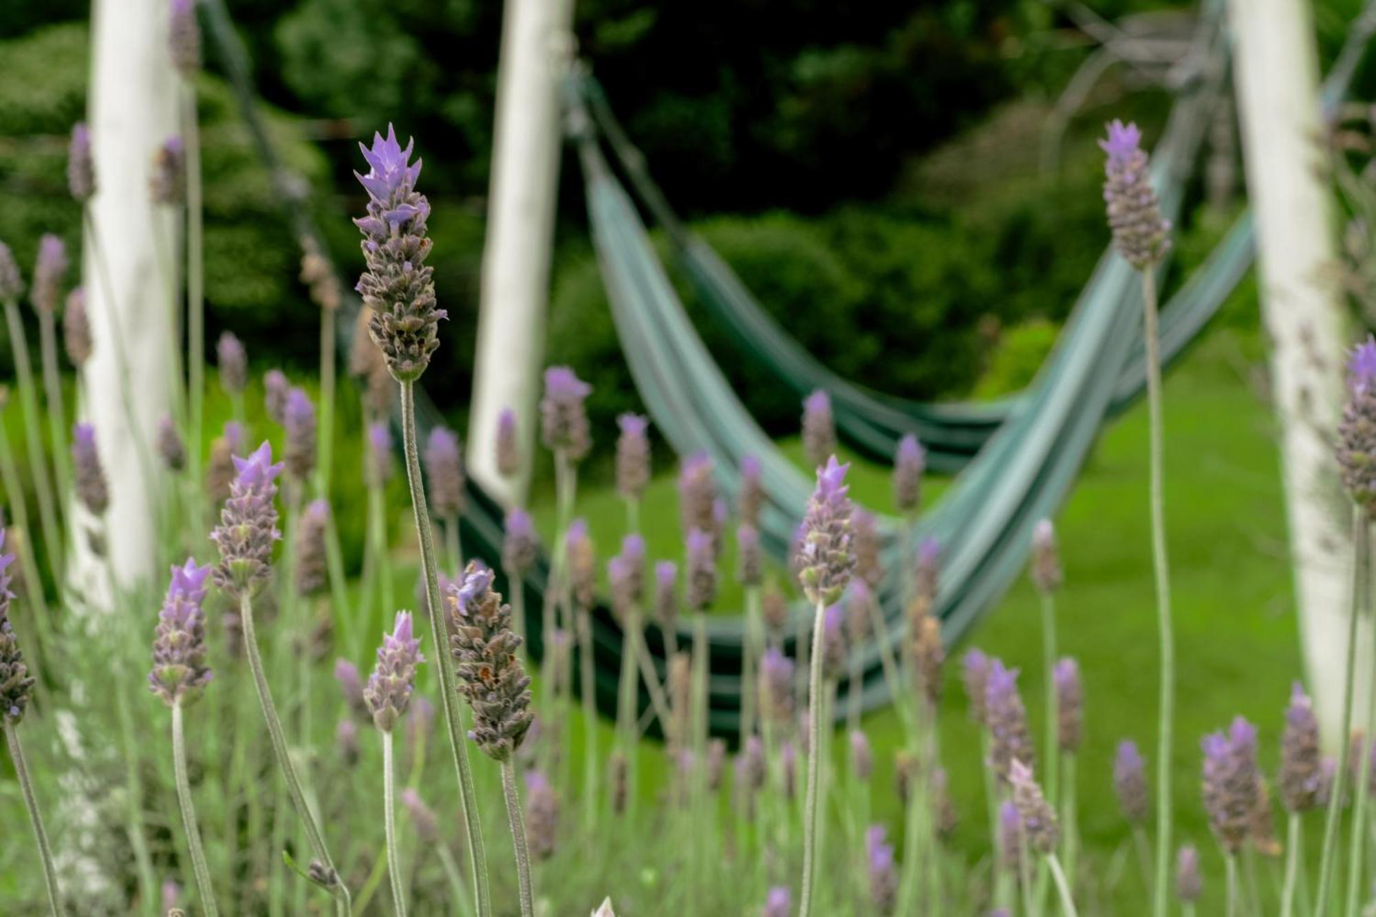
<path fill-rule="evenodd" d="M 272 464 L 272 446 L 264 441 L 248 458 L 234 456 L 234 470 L 238 476 L 211 541 L 220 549 L 215 585 L 241 596 L 252 595 L 271 573 L 272 542 L 282 537 L 272 503 L 282 463 Z"/>

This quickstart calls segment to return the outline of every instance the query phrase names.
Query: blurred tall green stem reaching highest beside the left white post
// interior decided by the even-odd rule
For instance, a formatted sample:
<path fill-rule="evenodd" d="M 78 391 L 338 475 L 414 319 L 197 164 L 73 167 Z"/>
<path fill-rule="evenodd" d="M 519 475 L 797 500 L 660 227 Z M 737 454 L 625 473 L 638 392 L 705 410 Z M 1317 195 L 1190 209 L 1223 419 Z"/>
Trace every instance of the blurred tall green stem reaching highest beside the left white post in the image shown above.
<path fill-rule="evenodd" d="M 182 81 L 182 140 L 186 149 L 186 348 L 190 388 L 187 468 L 201 479 L 205 423 L 205 212 L 201 193 L 201 129 L 195 112 L 195 83 Z"/>

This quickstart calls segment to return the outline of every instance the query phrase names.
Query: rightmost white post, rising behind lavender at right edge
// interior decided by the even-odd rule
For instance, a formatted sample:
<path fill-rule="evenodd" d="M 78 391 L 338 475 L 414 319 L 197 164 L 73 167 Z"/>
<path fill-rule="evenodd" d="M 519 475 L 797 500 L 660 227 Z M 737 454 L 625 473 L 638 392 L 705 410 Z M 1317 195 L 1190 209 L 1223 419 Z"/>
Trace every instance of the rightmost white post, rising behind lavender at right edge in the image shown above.
<path fill-rule="evenodd" d="M 1303 0 L 1230 0 L 1247 190 L 1256 213 L 1300 636 L 1325 741 L 1337 741 L 1353 545 L 1329 436 L 1346 321 L 1320 149 L 1318 65 Z M 1368 639 L 1359 647 L 1365 650 Z M 1370 655 L 1358 655 L 1370 672 Z M 1358 697 L 1369 677 L 1358 679 Z M 1284 698 L 1276 698 L 1281 704 Z M 1358 705 L 1365 710 L 1365 704 Z M 1359 713 L 1365 721 L 1365 713 Z"/>

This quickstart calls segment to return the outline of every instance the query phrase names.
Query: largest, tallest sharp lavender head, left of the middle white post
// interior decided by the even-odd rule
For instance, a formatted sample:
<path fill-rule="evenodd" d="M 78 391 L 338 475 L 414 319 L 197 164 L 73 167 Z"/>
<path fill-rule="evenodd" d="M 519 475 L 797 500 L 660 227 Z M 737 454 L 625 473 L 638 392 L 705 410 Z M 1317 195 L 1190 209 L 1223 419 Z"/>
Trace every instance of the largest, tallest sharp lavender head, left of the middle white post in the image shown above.
<path fill-rule="evenodd" d="M 425 264 L 431 240 L 425 235 L 429 201 L 416 191 L 421 161 L 411 165 L 411 147 L 396 142 L 387 125 L 387 139 L 373 134 L 373 147 L 359 143 L 367 175 L 354 172 L 367 191 L 367 216 L 354 224 L 363 233 L 367 270 L 358 281 L 363 303 L 373 310 L 367 332 L 383 351 L 387 369 L 398 381 L 414 381 L 439 347 L 433 268 Z"/>

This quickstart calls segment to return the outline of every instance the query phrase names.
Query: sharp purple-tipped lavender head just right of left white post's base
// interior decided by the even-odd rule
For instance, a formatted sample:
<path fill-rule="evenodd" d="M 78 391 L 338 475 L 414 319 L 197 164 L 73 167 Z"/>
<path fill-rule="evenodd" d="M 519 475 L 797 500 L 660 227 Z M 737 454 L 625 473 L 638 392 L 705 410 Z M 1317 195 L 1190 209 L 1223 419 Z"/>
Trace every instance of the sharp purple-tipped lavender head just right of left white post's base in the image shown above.
<path fill-rule="evenodd" d="M 194 558 L 172 567 L 172 582 L 158 611 L 153 671 L 149 672 L 149 687 L 168 706 L 194 698 L 211 680 L 211 669 L 205 665 L 205 613 L 201 610 L 209 576 L 211 567 L 197 566 Z"/>

